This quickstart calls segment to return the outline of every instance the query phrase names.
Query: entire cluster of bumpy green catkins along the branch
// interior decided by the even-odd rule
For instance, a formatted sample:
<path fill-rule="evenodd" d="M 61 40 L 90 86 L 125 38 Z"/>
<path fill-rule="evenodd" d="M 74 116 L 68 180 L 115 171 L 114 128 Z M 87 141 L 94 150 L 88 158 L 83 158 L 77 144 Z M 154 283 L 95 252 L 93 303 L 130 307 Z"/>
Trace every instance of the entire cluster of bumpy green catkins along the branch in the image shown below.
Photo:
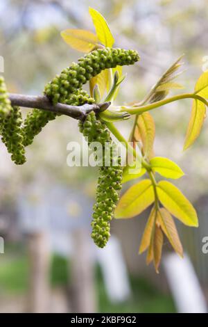
<path fill-rule="evenodd" d="M 107 68 L 117 65 L 132 65 L 139 60 L 137 51 L 124 49 L 96 49 L 62 70 L 51 82 L 47 83 L 44 94 L 53 104 L 58 102 L 70 105 L 94 103 L 94 98 L 82 89 L 83 84 Z M 2 141 L 8 147 L 8 152 L 15 163 L 26 161 L 24 147 L 33 143 L 33 138 L 42 128 L 56 117 L 56 113 L 33 109 L 22 123 L 18 107 L 12 107 L 8 99 L 6 86 L 0 77 L 0 132 Z M 98 158 L 99 177 L 96 192 L 96 204 L 92 220 L 92 239 L 97 246 L 103 248 L 110 237 L 110 220 L 112 219 L 116 202 L 121 189 L 122 168 L 121 158 L 114 161 L 116 144 L 112 142 L 110 132 L 105 123 L 96 117 L 94 111 L 79 122 L 80 131 L 87 138 L 89 146 L 92 142 L 100 142 L 102 153 Z M 110 162 L 105 165 L 105 145 L 112 150 Z"/>

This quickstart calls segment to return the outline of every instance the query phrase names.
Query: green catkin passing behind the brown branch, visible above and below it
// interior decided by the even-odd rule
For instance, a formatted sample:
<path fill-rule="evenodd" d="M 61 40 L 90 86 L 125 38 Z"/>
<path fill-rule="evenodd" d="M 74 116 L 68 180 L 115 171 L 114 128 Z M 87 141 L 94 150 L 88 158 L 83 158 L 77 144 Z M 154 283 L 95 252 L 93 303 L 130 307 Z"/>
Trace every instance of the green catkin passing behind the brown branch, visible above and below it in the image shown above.
<path fill-rule="evenodd" d="M 64 103 L 73 106 L 80 106 L 85 103 L 92 104 L 93 102 L 94 99 L 89 97 L 87 92 L 84 90 L 76 90 L 76 92 L 70 95 L 69 99 L 66 99 Z M 33 111 L 28 113 L 22 127 L 24 146 L 31 145 L 34 137 L 42 131 L 42 128 L 46 126 L 50 120 L 54 120 L 56 116 L 56 113 L 41 111 L 39 109 L 33 109 Z"/>

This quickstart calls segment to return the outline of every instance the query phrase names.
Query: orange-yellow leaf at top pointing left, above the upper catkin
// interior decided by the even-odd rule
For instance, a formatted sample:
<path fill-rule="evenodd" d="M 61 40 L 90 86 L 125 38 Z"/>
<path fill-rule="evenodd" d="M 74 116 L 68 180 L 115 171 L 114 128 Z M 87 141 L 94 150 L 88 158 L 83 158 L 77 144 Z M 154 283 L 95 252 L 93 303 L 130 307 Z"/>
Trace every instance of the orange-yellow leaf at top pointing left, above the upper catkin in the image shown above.
<path fill-rule="evenodd" d="M 61 33 L 62 38 L 73 49 L 89 52 L 98 45 L 98 37 L 85 29 L 66 29 Z"/>

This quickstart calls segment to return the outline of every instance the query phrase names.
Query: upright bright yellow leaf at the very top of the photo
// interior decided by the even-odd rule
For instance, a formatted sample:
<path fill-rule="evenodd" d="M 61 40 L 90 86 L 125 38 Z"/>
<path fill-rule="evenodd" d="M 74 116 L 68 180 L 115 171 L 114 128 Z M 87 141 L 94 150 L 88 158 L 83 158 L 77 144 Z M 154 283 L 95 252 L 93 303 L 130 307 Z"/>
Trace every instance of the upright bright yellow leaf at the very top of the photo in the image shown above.
<path fill-rule="evenodd" d="M 96 30 L 96 34 L 98 35 L 98 39 L 100 40 L 105 47 L 112 47 L 114 44 L 114 38 L 110 31 L 109 26 L 105 18 L 99 13 L 97 10 L 89 7 L 89 14 L 92 17 L 92 21 L 94 24 L 94 28 Z"/>

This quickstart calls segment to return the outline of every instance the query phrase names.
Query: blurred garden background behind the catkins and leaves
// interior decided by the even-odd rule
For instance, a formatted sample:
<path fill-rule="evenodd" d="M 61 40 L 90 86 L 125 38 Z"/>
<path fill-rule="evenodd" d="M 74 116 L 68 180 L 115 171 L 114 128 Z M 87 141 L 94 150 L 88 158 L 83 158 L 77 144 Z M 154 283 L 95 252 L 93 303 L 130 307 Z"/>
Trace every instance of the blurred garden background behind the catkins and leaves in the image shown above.
<path fill-rule="evenodd" d="M 80 54 L 63 42 L 60 31 L 93 31 L 89 6 L 106 17 L 116 46 L 137 49 L 141 56 L 137 65 L 124 67 L 128 76 L 119 104 L 142 99 L 181 54 L 187 72 L 179 81 L 185 92 L 193 90 L 208 55 L 206 0 L 1 0 L 0 55 L 10 92 L 40 95 L 47 81 L 77 60 Z M 15 166 L 0 144 L 0 312 L 207 310 L 202 238 L 208 236 L 208 129 L 205 121 L 196 144 L 182 152 L 190 111 L 191 101 L 184 100 L 153 112 L 155 154 L 184 170 L 175 184 L 200 221 L 198 229 L 177 223 L 186 257 L 177 260 L 166 242 L 159 275 L 146 266 L 145 255 L 137 255 L 148 210 L 113 221 L 110 244 L 103 250 L 94 246 L 96 169 L 67 166 L 67 143 L 81 141 L 76 120 L 50 122 L 27 148 L 24 166 Z M 123 135 L 131 125 L 119 124 Z"/>

